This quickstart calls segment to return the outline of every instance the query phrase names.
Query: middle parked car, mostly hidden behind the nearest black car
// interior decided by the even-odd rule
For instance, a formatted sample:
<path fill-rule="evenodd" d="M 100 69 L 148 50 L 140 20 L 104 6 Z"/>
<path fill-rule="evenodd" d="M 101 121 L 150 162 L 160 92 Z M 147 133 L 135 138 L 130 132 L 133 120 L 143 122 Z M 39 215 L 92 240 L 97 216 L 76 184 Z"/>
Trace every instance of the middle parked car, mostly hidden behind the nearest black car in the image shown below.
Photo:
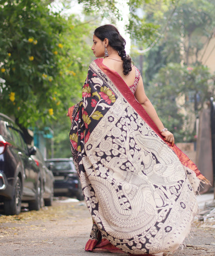
<path fill-rule="evenodd" d="M 45 206 L 51 206 L 54 196 L 54 175 L 52 171 L 50 171 L 45 165 L 44 158 L 38 148 L 36 154 L 31 157 L 35 160 L 37 166 L 39 167 L 42 177 L 41 206 L 43 205 L 43 201 Z"/>

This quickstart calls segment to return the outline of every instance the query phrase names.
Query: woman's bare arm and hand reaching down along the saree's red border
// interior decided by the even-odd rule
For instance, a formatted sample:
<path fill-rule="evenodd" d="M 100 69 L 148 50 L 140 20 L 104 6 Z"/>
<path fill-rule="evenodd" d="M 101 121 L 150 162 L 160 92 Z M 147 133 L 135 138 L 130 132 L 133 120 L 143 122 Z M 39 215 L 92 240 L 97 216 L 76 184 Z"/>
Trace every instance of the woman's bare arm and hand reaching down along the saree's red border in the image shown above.
<path fill-rule="evenodd" d="M 152 103 L 145 94 L 142 77 L 140 77 L 134 96 L 136 100 L 141 103 L 146 113 L 150 116 L 150 118 L 156 124 L 158 129 L 162 131 L 164 129 L 164 125 L 162 124 L 160 118 L 158 117 L 158 114 L 155 108 L 153 107 Z M 170 131 L 164 131 L 161 134 L 163 135 L 167 142 L 172 143 L 172 146 L 174 145 L 174 135 Z"/>

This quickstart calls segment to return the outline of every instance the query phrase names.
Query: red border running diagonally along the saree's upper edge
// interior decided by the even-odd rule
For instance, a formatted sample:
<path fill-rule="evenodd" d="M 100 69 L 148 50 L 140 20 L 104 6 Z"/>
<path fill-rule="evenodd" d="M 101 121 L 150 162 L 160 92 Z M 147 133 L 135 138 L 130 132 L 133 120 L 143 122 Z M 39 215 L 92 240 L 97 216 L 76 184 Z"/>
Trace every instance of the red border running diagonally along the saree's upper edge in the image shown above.
<path fill-rule="evenodd" d="M 125 81 L 119 76 L 119 74 L 108 68 L 103 64 L 102 58 L 95 59 L 95 63 L 97 66 L 108 76 L 111 81 L 114 83 L 116 88 L 119 90 L 119 92 L 125 97 L 125 99 L 128 101 L 128 103 L 131 105 L 131 107 L 143 118 L 143 120 L 151 127 L 153 131 L 155 131 L 159 137 L 170 147 L 174 150 L 176 155 L 178 156 L 180 162 L 188 167 L 189 169 L 193 170 L 196 174 L 196 176 L 199 179 L 206 180 L 207 179 L 201 174 L 201 172 L 196 167 L 195 163 L 189 159 L 189 157 L 183 153 L 175 144 L 172 146 L 170 143 L 166 142 L 161 135 L 160 131 L 158 130 L 155 123 L 151 120 L 149 115 L 146 113 L 142 105 L 135 99 L 134 95 L 132 94 L 131 90 L 129 89 L 128 85 L 125 83 Z"/>

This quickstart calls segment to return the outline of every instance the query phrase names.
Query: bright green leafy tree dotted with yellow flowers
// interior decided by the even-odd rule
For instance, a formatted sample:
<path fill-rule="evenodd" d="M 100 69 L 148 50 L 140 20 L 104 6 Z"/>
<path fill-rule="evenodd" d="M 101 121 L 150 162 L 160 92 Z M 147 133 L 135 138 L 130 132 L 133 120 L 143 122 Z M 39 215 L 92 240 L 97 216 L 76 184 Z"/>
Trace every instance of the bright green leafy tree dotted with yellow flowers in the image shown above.
<path fill-rule="evenodd" d="M 22 128 L 41 128 L 80 96 L 88 24 L 65 19 L 39 0 L 0 5 L 0 111 Z"/>

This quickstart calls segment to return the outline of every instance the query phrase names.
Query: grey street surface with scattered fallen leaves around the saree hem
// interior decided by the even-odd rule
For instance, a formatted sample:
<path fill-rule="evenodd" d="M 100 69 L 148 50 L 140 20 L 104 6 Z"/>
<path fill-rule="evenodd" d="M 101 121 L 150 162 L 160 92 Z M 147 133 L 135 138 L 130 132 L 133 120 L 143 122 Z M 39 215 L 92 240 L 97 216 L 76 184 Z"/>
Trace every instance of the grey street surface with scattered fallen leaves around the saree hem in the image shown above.
<path fill-rule="evenodd" d="M 198 196 L 199 206 L 213 201 L 213 194 Z M 91 230 L 91 217 L 83 201 L 55 198 L 53 206 L 38 212 L 23 208 L 19 216 L 0 216 L 1 256 L 127 256 L 128 254 L 84 251 Z M 195 219 L 193 230 L 185 240 L 186 248 L 179 248 L 173 256 L 214 256 L 215 220 Z"/>

